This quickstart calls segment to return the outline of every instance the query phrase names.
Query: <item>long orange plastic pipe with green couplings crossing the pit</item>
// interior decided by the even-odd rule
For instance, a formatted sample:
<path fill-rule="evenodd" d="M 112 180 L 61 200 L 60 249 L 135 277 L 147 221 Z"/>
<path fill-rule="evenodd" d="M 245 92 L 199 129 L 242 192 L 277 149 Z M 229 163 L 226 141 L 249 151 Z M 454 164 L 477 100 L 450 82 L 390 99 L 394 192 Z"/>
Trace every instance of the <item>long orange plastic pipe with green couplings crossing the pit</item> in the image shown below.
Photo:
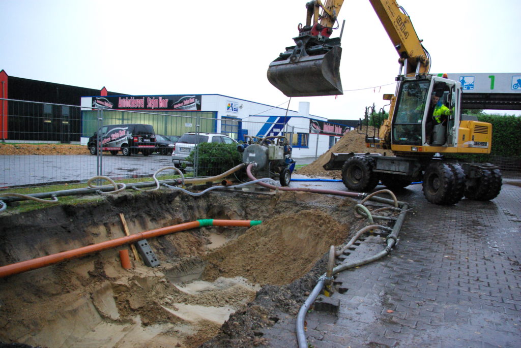
<path fill-rule="evenodd" d="M 119 247 L 123 244 L 130 244 L 137 242 L 142 239 L 153 238 L 158 236 L 167 235 L 187 229 L 204 226 L 236 226 L 236 227 L 251 227 L 261 224 L 258 220 L 214 220 L 214 219 L 203 219 L 183 224 L 161 227 L 151 229 L 148 231 L 140 232 L 130 236 L 107 240 L 101 243 L 92 244 L 90 246 L 81 247 L 78 249 L 68 250 L 59 252 L 53 255 L 47 255 L 38 257 L 36 259 L 22 261 L 6 266 L 0 267 L 0 278 L 7 277 L 10 275 L 26 272 L 31 269 L 41 268 L 48 265 L 53 265 L 61 261 L 74 259 L 75 257 L 83 256 L 97 251 L 102 251 L 110 248 Z"/>

